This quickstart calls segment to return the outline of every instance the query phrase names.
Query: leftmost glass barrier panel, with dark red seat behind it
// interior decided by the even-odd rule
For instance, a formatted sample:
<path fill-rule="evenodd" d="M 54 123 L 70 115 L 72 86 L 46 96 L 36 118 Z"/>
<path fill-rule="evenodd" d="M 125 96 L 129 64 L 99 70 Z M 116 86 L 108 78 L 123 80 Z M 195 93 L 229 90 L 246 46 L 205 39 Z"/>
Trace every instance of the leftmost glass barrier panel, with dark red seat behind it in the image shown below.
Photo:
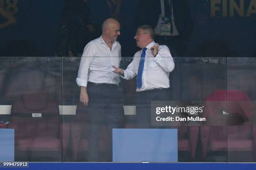
<path fill-rule="evenodd" d="M 1 101 L 12 105 L 7 128 L 15 129 L 15 161 L 61 161 L 60 117 L 56 108 L 60 58 L 9 59 L 1 58 L 9 66 L 3 68 L 8 71 Z"/>

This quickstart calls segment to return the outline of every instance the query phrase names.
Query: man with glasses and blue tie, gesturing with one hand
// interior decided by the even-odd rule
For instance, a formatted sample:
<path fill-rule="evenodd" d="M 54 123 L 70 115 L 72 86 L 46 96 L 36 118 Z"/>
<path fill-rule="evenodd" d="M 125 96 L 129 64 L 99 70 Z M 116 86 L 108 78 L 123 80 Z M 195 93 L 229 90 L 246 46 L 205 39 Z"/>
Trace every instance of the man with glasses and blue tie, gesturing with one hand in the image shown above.
<path fill-rule="evenodd" d="M 113 72 L 126 80 L 137 75 L 136 113 L 139 127 L 151 126 L 151 101 L 169 100 L 169 73 L 174 69 L 174 61 L 169 48 L 154 41 L 154 30 L 149 25 L 140 26 L 134 39 L 142 48 L 135 53 L 126 70 L 113 66 Z"/>

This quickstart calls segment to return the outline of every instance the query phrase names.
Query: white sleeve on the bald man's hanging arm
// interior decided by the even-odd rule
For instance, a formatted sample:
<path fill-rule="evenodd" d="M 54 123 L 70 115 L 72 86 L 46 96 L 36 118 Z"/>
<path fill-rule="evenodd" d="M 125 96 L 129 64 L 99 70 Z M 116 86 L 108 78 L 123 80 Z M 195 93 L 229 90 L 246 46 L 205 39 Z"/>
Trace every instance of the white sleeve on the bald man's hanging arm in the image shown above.
<path fill-rule="evenodd" d="M 92 44 L 87 44 L 84 47 L 84 52 L 81 57 L 78 75 L 77 75 L 77 85 L 87 87 L 88 72 L 93 58 L 95 57 L 95 49 Z"/>

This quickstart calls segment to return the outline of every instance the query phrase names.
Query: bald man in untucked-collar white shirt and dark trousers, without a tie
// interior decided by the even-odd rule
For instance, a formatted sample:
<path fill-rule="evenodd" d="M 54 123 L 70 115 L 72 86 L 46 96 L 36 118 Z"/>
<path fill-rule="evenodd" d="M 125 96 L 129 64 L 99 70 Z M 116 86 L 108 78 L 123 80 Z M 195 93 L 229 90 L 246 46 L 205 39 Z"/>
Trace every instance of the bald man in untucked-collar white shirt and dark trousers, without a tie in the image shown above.
<path fill-rule="evenodd" d="M 88 161 L 102 161 L 99 158 L 98 143 L 105 125 L 109 135 L 108 158 L 112 160 L 112 129 L 122 128 L 123 106 L 120 103 L 119 75 L 112 65 L 119 67 L 121 45 L 117 40 L 120 24 L 109 18 L 102 24 L 102 35 L 84 47 L 80 61 L 77 85 L 81 88 L 80 102 L 87 106 L 89 115 Z M 103 141 L 106 142 L 106 141 Z"/>

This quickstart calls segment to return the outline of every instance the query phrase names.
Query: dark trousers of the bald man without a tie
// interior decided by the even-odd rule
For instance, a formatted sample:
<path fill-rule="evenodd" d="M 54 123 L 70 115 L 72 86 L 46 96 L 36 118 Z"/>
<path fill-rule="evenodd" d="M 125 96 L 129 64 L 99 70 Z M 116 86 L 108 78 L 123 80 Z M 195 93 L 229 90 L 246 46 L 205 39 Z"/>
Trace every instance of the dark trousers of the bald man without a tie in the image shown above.
<path fill-rule="evenodd" d="M 96 84 L 88 82 L 89 96 L 89 139 L 88 161 L 112 161 L 112 129 L 123 128 L 123 105 L 121 93 L 117 85 Z M 102 126 L 107 129 L 108 141 L 103 141 L 108 147 L 107 155 L 102 159 L 99 155 L 99 140 Z"/>

